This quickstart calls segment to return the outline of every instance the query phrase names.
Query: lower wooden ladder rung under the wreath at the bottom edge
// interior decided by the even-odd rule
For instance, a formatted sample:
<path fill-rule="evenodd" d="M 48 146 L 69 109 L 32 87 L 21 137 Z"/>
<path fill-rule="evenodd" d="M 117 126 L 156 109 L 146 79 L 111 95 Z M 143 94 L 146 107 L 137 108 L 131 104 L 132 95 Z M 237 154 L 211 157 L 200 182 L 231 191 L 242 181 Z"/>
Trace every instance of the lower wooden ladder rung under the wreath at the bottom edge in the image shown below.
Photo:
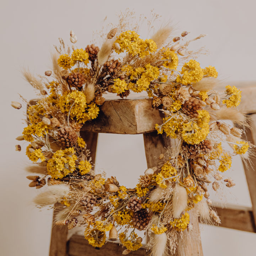
<path fill-rule="evenodd" d="M 83 236 L 73 235 L 68 242 L 69 256 L 106 256 L 122 255 L 126 248 L 113 242 L 107 242 L 101 248 L 96 249 L 89 245 Z M 139 249 L 129 253 L 130 256 L 144 256 L 145 249 Z"/>

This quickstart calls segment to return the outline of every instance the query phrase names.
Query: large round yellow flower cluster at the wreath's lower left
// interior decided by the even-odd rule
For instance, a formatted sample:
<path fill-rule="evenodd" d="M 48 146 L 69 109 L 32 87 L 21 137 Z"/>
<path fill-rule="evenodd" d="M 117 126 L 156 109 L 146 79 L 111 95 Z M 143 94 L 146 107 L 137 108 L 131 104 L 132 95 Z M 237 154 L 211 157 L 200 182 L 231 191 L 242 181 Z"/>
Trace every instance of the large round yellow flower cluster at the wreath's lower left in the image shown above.
<path fill-rule="evenodd" d="M 75 155 L 74 148 L 66 148 L 65 150 L 57 150 L 47 163 L 47 171 L 52 178 L 63 178 L 69 173 L 75 171 Z"/>

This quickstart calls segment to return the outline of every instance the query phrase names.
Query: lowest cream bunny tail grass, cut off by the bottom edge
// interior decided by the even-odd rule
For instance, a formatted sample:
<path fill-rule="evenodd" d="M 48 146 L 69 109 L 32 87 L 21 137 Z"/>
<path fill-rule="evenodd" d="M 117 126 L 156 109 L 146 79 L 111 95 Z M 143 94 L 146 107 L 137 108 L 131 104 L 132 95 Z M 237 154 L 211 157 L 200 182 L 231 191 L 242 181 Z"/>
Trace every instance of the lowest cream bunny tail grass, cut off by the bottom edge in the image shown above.
<path fill-rule="evenodd" d="M 167 255 L 167 235 L 162 233 L 160 235 L 153 234 L 151 246 L 150 246 L 150 256 L 162 256 Z"/>

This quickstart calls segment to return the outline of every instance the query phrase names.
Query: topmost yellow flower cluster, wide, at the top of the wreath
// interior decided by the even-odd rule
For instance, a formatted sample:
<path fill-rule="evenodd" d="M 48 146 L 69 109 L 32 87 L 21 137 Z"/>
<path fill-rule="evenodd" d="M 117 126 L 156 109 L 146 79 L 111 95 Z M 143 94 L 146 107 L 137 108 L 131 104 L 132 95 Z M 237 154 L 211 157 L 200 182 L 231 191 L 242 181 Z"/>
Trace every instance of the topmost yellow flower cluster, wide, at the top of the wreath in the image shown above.
<path fill-rule="evenodd" d="M 127 51 L 132 56 L 138 55 L 140 58 L 144 58 L 157 49 L 153 40 L 143 40 L 136 32 L 130 30 L 122 32 L 114 43 L 120 46 L 119 50 L 116 48 L 117 53 Z"/>

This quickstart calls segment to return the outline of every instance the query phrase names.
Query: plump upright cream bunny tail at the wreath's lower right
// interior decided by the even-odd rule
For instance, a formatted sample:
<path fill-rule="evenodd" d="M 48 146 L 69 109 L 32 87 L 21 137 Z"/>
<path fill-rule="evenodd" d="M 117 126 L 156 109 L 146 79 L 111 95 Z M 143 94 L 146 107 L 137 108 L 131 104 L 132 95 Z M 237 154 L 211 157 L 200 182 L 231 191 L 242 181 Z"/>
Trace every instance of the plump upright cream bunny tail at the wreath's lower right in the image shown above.
<path fill-rule="evenodd" d="M 172 212 L 174 218 L 179 218 L 187 207 L 187 191 L 185 187 L 176 185 L 172 192 Z"/>

